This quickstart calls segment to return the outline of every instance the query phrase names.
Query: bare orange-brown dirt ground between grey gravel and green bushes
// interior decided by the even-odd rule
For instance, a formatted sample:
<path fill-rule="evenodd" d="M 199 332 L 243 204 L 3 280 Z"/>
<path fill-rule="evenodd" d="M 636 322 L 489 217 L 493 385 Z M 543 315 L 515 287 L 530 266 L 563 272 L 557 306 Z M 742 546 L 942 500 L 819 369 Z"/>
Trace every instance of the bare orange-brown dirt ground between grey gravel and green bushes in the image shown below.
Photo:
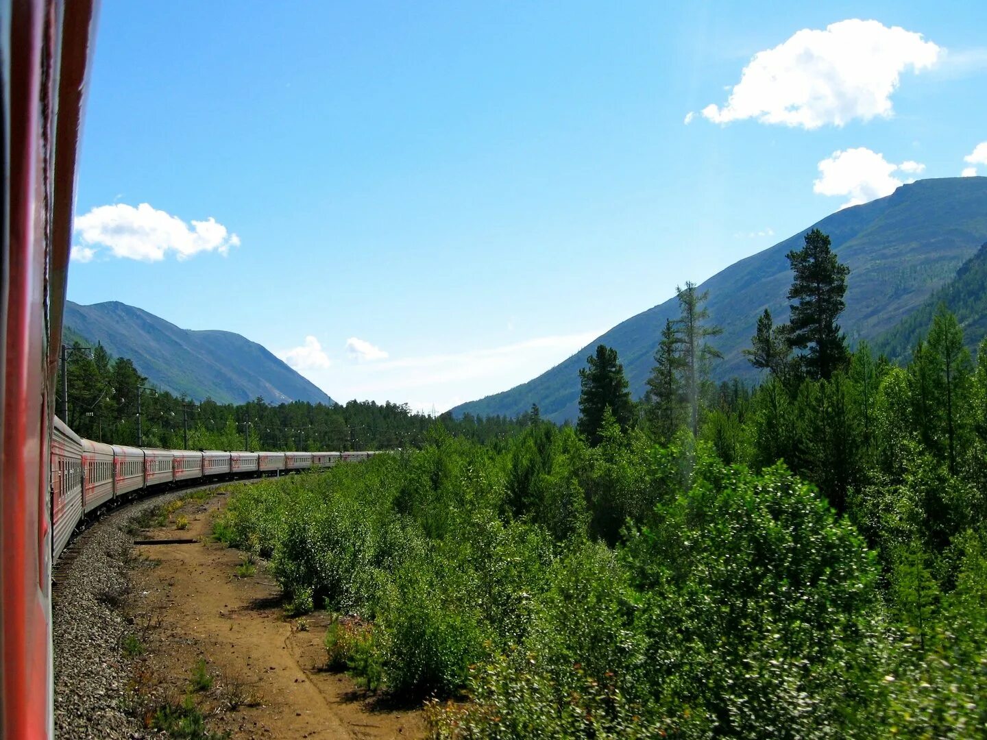
<path fill-rule="evenodd" d="M 165 528 L 140 538 L 190 538 L 182 545 L 137 548 L 131 613 L 146 650 L 134 679 L 157 694 L 190 693 L 209 725 L 231 738 L 369 738 L 424 734 L 419 707 L 394 707 L 324 670 L 329 617 L 287 619 L 280 589 L 258 566 L 237 577 L 242 554 L 212 541 L 212 519 L 225 501 L 190 501 Z M 184 515 L 189 528 L 175 529 Z M 197 661 L 212 686 L 194 691 Z M 235 706 L 235 708 L 233 708 Z"/>

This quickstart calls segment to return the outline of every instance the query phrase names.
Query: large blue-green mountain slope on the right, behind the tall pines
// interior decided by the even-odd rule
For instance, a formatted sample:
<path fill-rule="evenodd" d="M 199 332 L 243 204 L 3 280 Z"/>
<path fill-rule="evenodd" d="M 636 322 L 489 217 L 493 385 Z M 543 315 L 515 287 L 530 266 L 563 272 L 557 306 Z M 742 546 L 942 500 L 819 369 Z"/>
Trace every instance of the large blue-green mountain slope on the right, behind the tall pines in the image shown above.
<path fill-rule="evenodd" d="M 837 211 L 708 279 L 700 289 L 710 291 L 711 320 L 723 328 L 714 342 L 723 353 L 716 378 L 750 375 L 741 349 L 749 345 L 765 308 L 778 322 L 788 321 L 785 296 L 792 271 L 785 256 L 801 248 L 802 237 L 813 227 L 829 234 L 833 250 L 851 268 L 841 325 L 852 338 L 870 340 L 921 305 L 987 239 L 987 178 L 902 185 L 886 197 Z M 681 275 L 681 281 L 689 277 Z M 631 391 L 640 397 L 658 334 L 665 320 L 677 315 L 678 302 L 671 298 L 619 324 L 534 380 L 452 412 L 516 415 L 537 403 L 548 418 L 573 419 L 578 415 L 578 369 L 600 342 L 617 349 Z"/>

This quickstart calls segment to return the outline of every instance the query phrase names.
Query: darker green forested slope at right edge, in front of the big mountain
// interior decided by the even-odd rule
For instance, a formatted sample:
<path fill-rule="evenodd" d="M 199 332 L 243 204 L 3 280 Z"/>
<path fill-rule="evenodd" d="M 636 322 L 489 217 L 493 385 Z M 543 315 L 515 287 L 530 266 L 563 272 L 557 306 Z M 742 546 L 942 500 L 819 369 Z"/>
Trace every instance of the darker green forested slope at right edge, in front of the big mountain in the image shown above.
<path fill-rule="evenodd" d="M 874 350 L 895 362 L 907 361 L 918 340 L 929 333 L 940 303 L 955 314 L 966 346 L 975 354 L 980 340 L 987 336 L 987 243 L 898 326 L 874 339 Z"/>

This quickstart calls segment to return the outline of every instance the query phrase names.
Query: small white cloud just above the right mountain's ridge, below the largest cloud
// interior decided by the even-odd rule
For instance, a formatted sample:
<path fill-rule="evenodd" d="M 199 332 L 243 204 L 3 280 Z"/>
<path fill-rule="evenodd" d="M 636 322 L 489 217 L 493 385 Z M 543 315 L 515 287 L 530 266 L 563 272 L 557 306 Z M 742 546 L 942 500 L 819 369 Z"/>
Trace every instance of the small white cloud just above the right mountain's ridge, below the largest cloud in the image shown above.
<path fill-rule="evenodd" d="M 821 177 L 812 185 L 812 191 L 820 195 L 849 196 L 850 200 L 840 206 L 846 208 L 890 195 L 896 187 L 903 185 L 894 173 L 915 173 L 924 169 L 925 166 L 917 162 L 895 165 L 887 162 L 884 155 L 862 146 L 833 152 L 831 157 L 820 162 Z"/>

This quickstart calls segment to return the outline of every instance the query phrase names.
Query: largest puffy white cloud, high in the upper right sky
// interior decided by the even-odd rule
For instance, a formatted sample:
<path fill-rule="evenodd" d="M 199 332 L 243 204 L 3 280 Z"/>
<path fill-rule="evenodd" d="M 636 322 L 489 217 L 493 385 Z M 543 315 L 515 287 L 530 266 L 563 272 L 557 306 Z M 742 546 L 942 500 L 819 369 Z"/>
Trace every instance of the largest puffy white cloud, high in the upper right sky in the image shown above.
<path fill-rule="evenodd" d="M 726 105 L 711 104 L 702 113 L 716 123 L 757 118 L 803 128 L 890 117 L 901 73 L 932 67 L 942 51 L 921 34 L 877 21 L 803 29 L 754 54 Z"/>

